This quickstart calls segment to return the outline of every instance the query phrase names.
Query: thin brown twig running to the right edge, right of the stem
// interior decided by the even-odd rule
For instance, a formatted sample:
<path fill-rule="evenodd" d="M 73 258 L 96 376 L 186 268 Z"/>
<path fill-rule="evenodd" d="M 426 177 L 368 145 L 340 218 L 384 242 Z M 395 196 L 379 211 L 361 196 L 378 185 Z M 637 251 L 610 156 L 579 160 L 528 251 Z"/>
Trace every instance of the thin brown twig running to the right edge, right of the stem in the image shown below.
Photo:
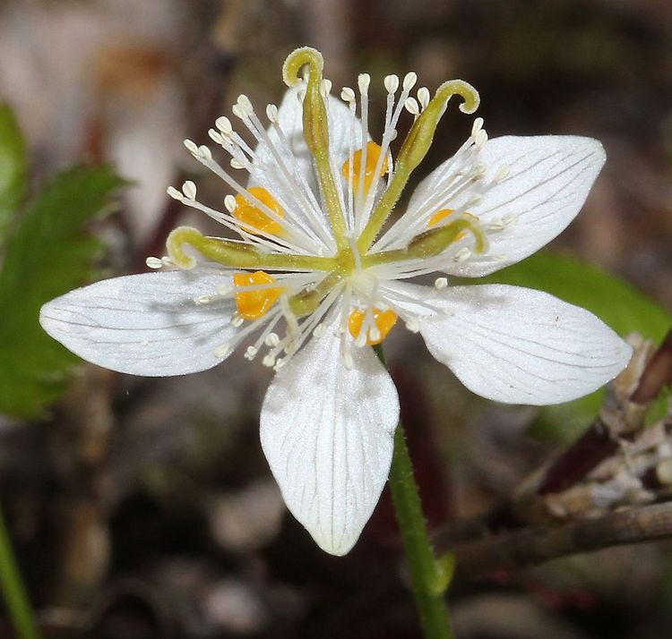
<path fill-rule="evenodd" d="M 672 503 L 635 507 L 554 527 L 529 527 L 458 544 L 455 579 L 520 569 L 550 559 L 672 537 Z"/>

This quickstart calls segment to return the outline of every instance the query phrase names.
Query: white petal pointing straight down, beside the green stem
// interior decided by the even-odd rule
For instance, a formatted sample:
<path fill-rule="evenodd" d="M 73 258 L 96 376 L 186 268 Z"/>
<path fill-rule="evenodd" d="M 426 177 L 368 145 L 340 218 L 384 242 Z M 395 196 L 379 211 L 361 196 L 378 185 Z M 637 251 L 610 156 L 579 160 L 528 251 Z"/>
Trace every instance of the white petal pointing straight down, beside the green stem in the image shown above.
<path fill-rule="evenodd" d="M 261 438 L 282 496 L 314 541 L 344 555 L 374 510 L 392 462 L 399 400 L 372 349 L 340 357 L 333 328 L 313 338 L 273 380 Z"/>

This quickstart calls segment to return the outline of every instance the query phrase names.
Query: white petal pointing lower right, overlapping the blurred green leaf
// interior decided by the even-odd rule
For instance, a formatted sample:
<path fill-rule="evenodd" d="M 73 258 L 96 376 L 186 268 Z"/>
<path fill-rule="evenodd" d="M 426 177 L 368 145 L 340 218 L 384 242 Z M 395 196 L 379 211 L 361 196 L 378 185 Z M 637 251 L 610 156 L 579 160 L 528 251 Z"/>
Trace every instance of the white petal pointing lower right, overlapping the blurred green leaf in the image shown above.
<path fill-rule="evenodd" d="M 587 395 L 616 377 L 632 354 L 592 313 L 541 291 L 393 287 L 443 311 L 420 322 L 429 352 L 471 391 L 498 402 L 548 405 Z"/>

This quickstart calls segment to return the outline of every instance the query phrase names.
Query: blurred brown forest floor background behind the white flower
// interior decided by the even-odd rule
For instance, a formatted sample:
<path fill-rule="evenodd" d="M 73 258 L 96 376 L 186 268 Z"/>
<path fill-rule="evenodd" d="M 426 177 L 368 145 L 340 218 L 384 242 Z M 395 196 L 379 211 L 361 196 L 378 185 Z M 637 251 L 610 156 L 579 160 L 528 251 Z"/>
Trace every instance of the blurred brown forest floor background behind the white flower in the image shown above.
<path fill-rule="evenodd" d="M 336 95 L 371 73 L 374 132 L 385 74 L 415 71 L 430 89 L 461 78 L 478 88 L 491 137 L 604 143 L 607 165 L 555 248 L 669 310 L 671 34 L 668 0 L 4 0 L 0 101 L 25 136 L 34 192 L 81 163 L 130 181 L 91 226 L 109 277 L 146 270 L 177 224 L 217 233 L 166 195 L 185 179 L 214 206 L 226 194 L 182 141 L 207 143 L 241 92 L 280 102 L 293 48 L 323 52 Z M 449 109 L 417 179 L 470 126 Z M 581 431 L 470 396 L 405 331 L 386 345 L 432 526 L 487 511 Z M 179 379 L 82 364 L 37 419 L 0 415 L 0 497 L 48 636 L 419 636 L 387 495 L 346 558 L 324 555 L 286 512 L 258 441 L 269 379 L 241 354 Z M 669 550 L 463 582 L 458 634 L 668 637 Z M 6 618 L 0 636 L 12 636 Z"/>

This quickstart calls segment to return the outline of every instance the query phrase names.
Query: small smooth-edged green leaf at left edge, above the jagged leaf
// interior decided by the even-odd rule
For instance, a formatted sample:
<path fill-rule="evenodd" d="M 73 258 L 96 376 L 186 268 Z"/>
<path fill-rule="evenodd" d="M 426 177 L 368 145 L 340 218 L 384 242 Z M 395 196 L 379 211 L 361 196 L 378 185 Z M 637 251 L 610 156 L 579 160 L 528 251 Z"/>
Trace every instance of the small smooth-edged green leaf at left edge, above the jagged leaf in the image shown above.
<path fill-rule="evenodd" d="M 25 193 L 25 141 L 11 107 L 0 104 L 0 246 Z"/>

